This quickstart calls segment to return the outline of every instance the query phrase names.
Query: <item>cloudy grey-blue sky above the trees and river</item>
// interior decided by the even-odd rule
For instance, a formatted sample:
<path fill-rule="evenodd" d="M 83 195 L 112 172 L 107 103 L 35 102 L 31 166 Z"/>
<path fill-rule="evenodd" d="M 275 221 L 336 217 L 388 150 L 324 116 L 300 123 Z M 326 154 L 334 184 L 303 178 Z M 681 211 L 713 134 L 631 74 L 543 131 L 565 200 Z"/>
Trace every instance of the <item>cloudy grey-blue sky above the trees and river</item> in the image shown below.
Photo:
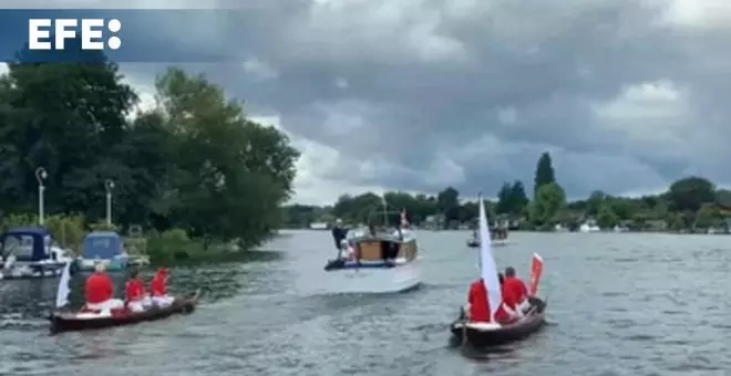
<path fill-rule="evenodd" d="M 731 185 L 730 1 L 0 0 L 19 4 L 241 9 L 165 38 L 240 56 L 192 69 L 290 135 L 297 202 L 529 187 L 544 150 L 570 198 Z M 123 65 L 147 104 L 162 69 Z"/>

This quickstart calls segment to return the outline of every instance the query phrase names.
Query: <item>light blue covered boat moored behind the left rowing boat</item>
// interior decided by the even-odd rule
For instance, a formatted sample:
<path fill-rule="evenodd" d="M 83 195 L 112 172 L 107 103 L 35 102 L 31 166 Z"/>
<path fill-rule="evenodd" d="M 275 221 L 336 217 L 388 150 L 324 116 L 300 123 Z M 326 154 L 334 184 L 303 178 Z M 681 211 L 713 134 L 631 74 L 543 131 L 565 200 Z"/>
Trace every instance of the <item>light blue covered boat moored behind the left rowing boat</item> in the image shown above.
<path fill-rule="evenodd" d="M 81 255 L 76 259 L 79 271 L 93 271 L 97 262 L 103 262 L 107 271 L 127 269 L 130 257 L 124 251 L 124 241 L 113 231 L 89 233 L 81 244 Z"/>

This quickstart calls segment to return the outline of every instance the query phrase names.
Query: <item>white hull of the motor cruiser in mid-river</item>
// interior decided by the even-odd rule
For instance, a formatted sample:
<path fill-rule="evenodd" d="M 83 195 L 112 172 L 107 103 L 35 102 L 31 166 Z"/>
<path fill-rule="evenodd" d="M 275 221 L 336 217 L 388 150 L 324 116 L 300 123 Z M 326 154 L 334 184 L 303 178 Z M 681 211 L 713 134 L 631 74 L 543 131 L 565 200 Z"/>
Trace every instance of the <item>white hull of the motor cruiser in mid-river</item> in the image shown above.
<path fill-rule="evenodd" d="M 393 268 L 330 270 L 320 280 L 321 293 L 398 293 L 421 285 L 420 260 Z"/>

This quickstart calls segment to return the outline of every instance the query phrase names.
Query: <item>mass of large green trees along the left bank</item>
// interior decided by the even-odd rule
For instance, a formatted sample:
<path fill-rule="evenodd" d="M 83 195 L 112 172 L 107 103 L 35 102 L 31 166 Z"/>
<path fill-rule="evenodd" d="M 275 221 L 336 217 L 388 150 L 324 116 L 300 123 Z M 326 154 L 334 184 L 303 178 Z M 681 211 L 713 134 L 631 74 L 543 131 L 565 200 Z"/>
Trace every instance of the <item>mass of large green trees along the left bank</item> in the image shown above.
<path fill-rule="evenodd" d="M 97 222 L 111 179 L 122 229 L 177 229 L 205 246 L 248 248 L 280 227 L 299 157 L 284 133 L 249 121 L 222 87 L 177 67 L 157 77 L 155 108 L 135 112 L 137 93 L 117 64 L 94 61 L 14 63 L 0 76 L 6 217 L 37 212 L 43 167 L 49 216 Z"/>

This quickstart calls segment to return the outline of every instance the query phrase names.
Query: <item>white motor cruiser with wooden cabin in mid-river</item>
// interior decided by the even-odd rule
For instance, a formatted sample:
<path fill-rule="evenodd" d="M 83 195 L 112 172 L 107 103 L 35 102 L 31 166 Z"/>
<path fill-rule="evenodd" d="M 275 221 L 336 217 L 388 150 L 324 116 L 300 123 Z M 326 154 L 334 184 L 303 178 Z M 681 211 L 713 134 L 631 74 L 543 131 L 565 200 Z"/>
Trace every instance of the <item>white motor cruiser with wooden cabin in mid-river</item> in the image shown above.
<path fill-rule="evenodd" d="M 385 216 L 385 215 L 384 215 Z M 402 224 L 405 213 L 401 212 Z M 334 293 L 395 293 L 421 284 L 419 246 L 413 231 L 399 226 L 347 239 L 350 258 L 338 257 L 325 267 L 323 289 Z"/>

